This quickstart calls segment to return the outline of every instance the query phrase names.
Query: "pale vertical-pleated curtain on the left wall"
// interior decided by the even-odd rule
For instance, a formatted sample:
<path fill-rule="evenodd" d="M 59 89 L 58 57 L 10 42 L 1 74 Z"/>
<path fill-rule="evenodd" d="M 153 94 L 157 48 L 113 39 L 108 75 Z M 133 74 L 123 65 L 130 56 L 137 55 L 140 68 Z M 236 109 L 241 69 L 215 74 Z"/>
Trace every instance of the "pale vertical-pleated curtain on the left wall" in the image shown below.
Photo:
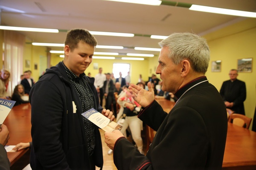
<path fill-rule="evenodd" d="M 3 36 L 3 68 L 10 71 L 7 94 L 12 96 L 15 86 L 20 80 L 20 75 L 23 73 L 25 36 L 19 32 L 9 30 L 4 30 Z"/>

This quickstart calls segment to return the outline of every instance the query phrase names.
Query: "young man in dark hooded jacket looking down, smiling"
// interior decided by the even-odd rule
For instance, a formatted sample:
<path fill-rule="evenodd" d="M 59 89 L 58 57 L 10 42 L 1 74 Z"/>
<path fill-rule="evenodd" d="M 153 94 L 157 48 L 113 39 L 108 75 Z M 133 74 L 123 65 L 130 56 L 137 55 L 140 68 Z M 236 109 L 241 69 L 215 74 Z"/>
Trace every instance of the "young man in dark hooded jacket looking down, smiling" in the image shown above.
<path fill-rule="evenodd" d="M 84 71 L 93 60 L 97 40 L 87 30 L 67 33 L 63 62 L 47 69 L 30 91 L 32 169 L 102 169 L 100 132 L 81 114 L 99 104 L 94 78 Z"/>

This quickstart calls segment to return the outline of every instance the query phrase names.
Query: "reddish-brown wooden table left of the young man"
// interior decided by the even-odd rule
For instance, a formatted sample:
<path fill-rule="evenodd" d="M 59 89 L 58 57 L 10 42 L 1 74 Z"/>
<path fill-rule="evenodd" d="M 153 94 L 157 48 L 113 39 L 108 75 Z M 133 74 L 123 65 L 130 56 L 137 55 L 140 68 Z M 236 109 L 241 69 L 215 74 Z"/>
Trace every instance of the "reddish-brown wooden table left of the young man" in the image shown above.
<path fill-rule="evenodd" d="M 10 132 L 10 139 L 7 145 L 17 145 L 19 142 L 31 142 L 31 105 L 30 103 L 14 106 L 4 120 Z M 11 166 L 29 149 L 22 149 L 18 152 L 8 152 L 7 156 Z"/>

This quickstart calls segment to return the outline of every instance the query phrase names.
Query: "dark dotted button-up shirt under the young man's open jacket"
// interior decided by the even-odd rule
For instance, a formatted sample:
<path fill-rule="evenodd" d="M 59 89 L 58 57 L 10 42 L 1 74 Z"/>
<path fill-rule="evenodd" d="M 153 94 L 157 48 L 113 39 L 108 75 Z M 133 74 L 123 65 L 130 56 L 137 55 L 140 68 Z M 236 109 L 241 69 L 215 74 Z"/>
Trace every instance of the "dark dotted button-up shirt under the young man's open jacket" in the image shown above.
<path fill-rule="evenodd" d="M 93 93 L 90 90 L 89 85 L 86 83 L 85 78 L 84 78 L 84 73 L 80 74 L 79 77 L 77 77 L 71 70 L 69 70 L 65 64 L 62 62 L 65 71 L 75 87 L 75 90 L 77 94 L 79 95 L 79 98 L 82 103 L 83 107 L 83 112 L 88 111 L 89 109 L 94 107 L 94 98 L 93 98 Z M 78 113 L 78 114 L 82 114 Z M 91 121 L 83 117 L 84 120 L 84 128 L 85 128 L 85 134 L 86 134 L 86 139 L 88 143 L 88 151 L 89 155 L 91 156 L 94 153 L 94 148 L 95 148 L 95 124 L 93 124 Z"/>

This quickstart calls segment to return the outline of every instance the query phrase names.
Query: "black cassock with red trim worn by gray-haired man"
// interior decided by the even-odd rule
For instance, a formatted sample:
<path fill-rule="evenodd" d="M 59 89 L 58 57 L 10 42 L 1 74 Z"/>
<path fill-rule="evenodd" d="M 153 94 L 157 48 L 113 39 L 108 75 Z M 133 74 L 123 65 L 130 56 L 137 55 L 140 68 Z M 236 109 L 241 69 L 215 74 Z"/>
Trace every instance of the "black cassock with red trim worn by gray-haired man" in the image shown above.
<path fill-rule="evenodd" d="M 153 101 L 138 116 L 157 131 L 146 154 L 119 138 L 114 146 L 114 163 L 120 169 L 198 170 L 222 168 L 226 136 L 226 107 L 217 89 L 206 77 L 196 79 L 179 91 L 180 99 L 169 114 Z M 182 97 L 181 97 L 182 96 Z"/>

